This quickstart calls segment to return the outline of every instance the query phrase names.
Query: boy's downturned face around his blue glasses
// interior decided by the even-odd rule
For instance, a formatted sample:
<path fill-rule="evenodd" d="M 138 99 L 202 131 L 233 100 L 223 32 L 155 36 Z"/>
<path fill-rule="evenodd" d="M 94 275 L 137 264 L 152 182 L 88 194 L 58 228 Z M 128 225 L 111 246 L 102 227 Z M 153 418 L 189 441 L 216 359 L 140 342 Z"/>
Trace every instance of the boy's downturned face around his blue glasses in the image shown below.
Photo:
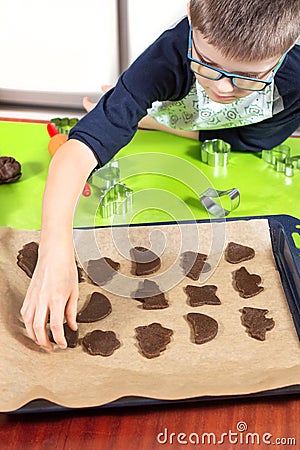
<path fill-rule="evenodd" d="M 192 56 L 199 61 L 229 73 L 266 80 L 271 76 L 272 69 L 282 55 L 258 62 L 236 61 L 225 58 L 218 49 L 206 41 L 199 30 L 193 30 Z M 195 76 L 199 84 L 205 89 L 208 97 L 214 102 L 232 103 L 238 98 L 246 97 L 253 92 L 236 88 L 231 80 L 224 76 L 219 80 L 209 80 L 197 74 Z"/>

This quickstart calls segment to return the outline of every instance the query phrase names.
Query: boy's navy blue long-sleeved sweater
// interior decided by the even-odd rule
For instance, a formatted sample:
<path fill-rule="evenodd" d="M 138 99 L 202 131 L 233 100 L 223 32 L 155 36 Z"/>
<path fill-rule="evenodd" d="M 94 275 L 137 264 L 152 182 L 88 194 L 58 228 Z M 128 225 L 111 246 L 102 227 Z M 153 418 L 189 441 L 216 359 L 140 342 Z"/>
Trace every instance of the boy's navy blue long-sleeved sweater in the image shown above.
<path fill-rule="evenodd" d="M 181 100 L 190 91 L 194 74 L 187 59 L 188 30 L 188 20 L 184 18 L 165 31 L 71 130 L 69 137 L 86 144 L 100 166 L 130 142 L 139 120 L 153 102 Z M 299 45 L 289 51 L 276 73 L 275 86 L 279 97 L 271 118 L 242 127 L 200 130 L 199 139 L 223 139 L 232 150 L 239 151 L 279 145 L 300 126 Z"/>

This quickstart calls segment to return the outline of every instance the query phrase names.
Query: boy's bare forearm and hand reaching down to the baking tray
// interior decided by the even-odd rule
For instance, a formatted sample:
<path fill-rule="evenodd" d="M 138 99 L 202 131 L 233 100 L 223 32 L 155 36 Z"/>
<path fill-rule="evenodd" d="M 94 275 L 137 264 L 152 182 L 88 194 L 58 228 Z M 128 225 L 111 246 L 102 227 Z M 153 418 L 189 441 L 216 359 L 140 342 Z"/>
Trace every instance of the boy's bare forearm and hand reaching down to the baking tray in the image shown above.
<path fill-rule="evenodd" d="M 64 315 L 69 326 L 77 328 L 73 215 L 86 179 L 96 165 L 92 151 L 71 139 L 58 149 L 49 167 L 39 257 L 21 309 L 29 337 L 47 350 L 53 348 L 46 332 L 49 315 L 54 340 L 62 348 L 66 347 Z"/>

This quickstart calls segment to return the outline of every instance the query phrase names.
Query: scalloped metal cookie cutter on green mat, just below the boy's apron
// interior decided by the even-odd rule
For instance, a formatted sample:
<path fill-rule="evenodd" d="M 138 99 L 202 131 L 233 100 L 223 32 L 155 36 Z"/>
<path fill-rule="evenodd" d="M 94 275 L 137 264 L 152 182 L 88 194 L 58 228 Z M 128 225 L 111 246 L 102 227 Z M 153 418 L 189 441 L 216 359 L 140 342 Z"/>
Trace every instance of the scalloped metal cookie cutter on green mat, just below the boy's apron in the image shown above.
<path fill-rule="evenodd" d="M 209 166 L 226 167 L 231 146 L 222 139 L 212 139 L 202 142 L 200 147 L 201 161 Z"/>

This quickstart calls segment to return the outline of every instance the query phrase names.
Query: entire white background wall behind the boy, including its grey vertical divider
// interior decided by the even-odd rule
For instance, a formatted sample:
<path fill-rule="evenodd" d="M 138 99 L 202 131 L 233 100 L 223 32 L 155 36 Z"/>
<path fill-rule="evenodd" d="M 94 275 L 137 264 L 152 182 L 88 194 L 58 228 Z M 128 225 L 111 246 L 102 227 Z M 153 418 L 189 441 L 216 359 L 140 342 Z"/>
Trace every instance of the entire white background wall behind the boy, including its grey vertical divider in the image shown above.
<path fill-rule="evenodd" d="M 0 103 L 79 107 L 186 14 L 187 0 L 0 0 Z M 122 45 L 122 42 L 121 42 Z M 123 69 L 127 66 L 123 64 Z"/>

